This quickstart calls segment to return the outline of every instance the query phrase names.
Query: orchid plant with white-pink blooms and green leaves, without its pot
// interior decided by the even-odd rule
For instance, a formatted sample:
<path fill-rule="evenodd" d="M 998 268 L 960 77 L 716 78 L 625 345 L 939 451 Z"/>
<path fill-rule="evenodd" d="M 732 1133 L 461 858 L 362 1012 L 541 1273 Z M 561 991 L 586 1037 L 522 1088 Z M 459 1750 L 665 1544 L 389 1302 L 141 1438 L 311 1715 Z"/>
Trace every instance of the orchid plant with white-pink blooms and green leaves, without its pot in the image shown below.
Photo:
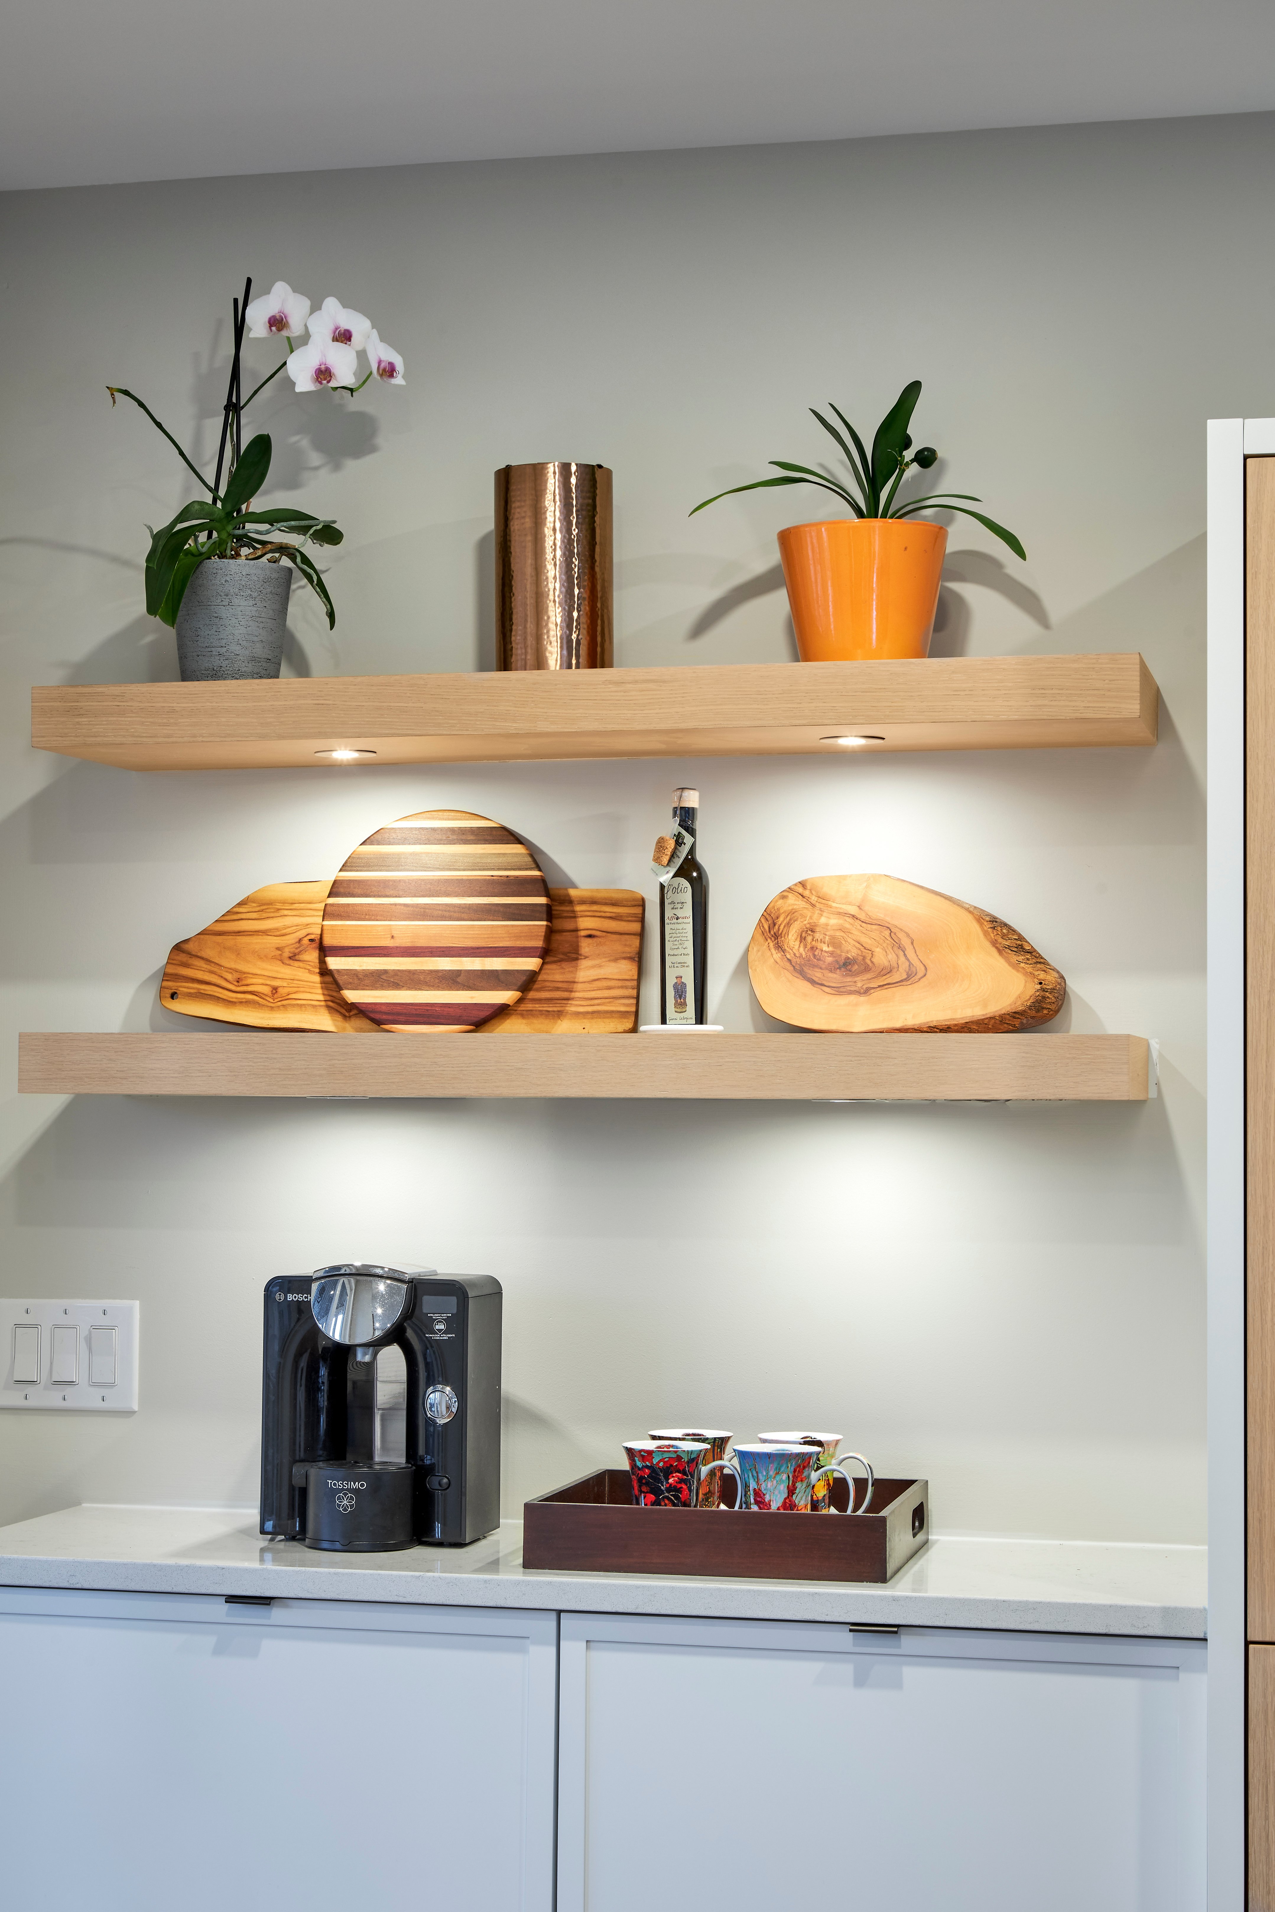
<path fill-rule="evenodd" d="M 117 398 L 130 398 L 145 411 L 182 463 L 199 478 L 208 493 L 184 505 L 176 518 L 151 532 L 151 549 L 145 560 L 145 608 L 151 618 L 176 623 L 185 587 L 195 570 L 208 558 L 243 558 L 247 562 L 296 566 L 306 583 L 317 593 L 329 629 L 336 623 L 336 610 L 323 576 L 306 549 L 308 545 L 338 545 L 342 532 L 333 518 L 315 518 L 294 505 L 277 505 L 271 511 L 252 511 L 252 499 L 260 493 L 270 472 L 273 445 L 268 432 L 258 432 L 243 444 L 243 415 L 260 392 L 287 367 L 289 379 L 298 392 L 361 392 L 369 379 L 378 384 L 405 384 L 403 356 L 394 346 L 382 344 L 373 331 L 371 319 L 361 312 L 352 312 L 338 298 L 325 298 L 312 314 L 310 300 L 294 293 L 279 279 L 266 298 L 249 302 L 252 281 L 243 287 L 243 298 L 233 300 L 233 340 L 235 350 L 229 369 L 229 388 L 222 409 L 222 442 L 216 455 L 216 474 L 205 478 L 195 461 L 187 457 L 166 424 L 155 417 L 128 386 L 109 384 L 111 403 Z M 287 346 L 285 358 L 268 371 L 266 377 L 243 398 L 243 338 L 279 338 Z M 310 342 L 296 346 L 302 333 L 310 333 Z M 359 379 L 359 352 L 367 354 L 367 371 Z M 357 384 L 356 384 L 357 379 Z M 222 484 L 226 472 L 226 484 Z M 298 543 L 291 543 L 298 539 Z"/>

